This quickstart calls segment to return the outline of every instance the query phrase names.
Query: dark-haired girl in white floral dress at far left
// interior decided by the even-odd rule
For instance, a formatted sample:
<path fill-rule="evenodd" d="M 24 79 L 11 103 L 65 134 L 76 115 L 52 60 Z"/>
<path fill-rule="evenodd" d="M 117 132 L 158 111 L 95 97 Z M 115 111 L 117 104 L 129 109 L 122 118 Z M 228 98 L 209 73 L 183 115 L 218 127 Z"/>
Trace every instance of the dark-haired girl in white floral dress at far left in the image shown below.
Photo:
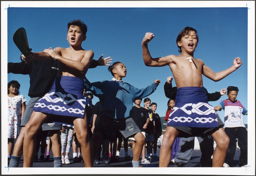
<path fill-rule="evenodd" d="M 14 147 L 14 139 L 20 133 L 20 123 L 26 108 L 26 99 L 19 94 L 20 84 L 18 81 L 8 83 L 8 163 L 11 159 Z"/>

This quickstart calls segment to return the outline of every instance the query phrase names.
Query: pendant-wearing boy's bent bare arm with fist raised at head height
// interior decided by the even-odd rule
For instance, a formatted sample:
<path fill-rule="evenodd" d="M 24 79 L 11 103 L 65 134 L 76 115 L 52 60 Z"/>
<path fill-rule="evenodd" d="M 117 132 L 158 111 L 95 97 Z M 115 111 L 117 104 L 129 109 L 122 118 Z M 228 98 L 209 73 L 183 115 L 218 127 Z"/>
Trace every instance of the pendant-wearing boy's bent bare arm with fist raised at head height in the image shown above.
<path fill-rule="evenodd" d="M 146 66 L 151 67 L 161 67 L 169 65 L 172 60 L 170 56 L 166 57 L 158 57 L 158 58 L 152 58 L 149 49 L 148 49 L 148 42 L 150 42 L 154 38 L 154 34 L 147 32 L 142 40 L 142 55 L 143 55 L 143 61 Z"/>

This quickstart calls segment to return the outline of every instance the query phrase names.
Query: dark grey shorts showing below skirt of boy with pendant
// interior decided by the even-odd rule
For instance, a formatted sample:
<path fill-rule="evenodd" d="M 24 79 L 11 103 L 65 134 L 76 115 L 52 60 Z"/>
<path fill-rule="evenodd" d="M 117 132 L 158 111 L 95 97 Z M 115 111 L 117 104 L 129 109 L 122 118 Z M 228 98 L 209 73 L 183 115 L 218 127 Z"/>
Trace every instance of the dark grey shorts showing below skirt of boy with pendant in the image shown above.
<path fill-rule="evenodd" d="M 217 131 L 219 128 L 222 128 L 224 123 L 222 120 L 219 118 L 219 115 L 217 114 L 218 118 L 218 127 L 213 127 L 213 128 L 198 128 L 198 127 L 182 127 L 182 126 L 174 126 L 170 125 L 171 127 L 176 128 L 179 131 L 179 134 L 177 137 L 193 137 L 193 136 L 208 136 Z"/>

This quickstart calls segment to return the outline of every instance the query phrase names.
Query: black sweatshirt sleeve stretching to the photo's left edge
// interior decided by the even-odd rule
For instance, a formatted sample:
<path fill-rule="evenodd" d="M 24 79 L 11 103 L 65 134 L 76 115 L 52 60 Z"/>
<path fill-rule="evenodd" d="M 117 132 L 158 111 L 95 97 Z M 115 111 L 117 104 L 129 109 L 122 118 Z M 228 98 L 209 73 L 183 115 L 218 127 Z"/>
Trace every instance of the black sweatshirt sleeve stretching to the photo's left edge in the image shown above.
<path fill-rule="evenodd" d="M 28 75 L 32 70 L 32 62 L 30 64 L 27 64 L 24 61 L 19 63 L 9 62 L 7 64 L 8 73 Z"/>

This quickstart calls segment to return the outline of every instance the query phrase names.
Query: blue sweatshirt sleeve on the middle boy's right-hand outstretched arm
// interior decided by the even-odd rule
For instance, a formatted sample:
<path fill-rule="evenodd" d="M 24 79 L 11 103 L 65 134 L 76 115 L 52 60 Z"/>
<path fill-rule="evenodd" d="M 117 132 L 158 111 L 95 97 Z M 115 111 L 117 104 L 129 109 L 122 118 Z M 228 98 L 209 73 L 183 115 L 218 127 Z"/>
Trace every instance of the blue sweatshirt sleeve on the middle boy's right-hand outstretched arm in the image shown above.
<path fill-rule="evenodd" d="M 149 96 L 157 89 L 158 84 L 152 83 L 151 85 L 147 86 L 146 88 L 135 88 L 132 86 L 132 94 L 135 99 L 144 98 Z"/>

